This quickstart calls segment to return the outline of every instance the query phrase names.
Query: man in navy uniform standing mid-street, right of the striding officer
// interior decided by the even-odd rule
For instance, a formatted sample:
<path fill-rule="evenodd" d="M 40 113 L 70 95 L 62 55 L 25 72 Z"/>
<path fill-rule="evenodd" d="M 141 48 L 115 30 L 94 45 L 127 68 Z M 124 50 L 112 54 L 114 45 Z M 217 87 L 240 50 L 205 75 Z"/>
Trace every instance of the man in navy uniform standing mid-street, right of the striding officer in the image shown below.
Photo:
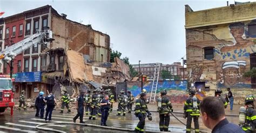
<path fill-rule="evenodd" d="M 102 120 L 100 125 L 104 125 L 106 126 L 106 120 L 107 120 L 107 116 L 109 116 L 109 109 L 110 109 L 110 101 L 109 101 L 109 95 L 105 95 L 104 99 L 102 99 L 102 101 L 100 101 L 100 110 L 102 112 Z"/>

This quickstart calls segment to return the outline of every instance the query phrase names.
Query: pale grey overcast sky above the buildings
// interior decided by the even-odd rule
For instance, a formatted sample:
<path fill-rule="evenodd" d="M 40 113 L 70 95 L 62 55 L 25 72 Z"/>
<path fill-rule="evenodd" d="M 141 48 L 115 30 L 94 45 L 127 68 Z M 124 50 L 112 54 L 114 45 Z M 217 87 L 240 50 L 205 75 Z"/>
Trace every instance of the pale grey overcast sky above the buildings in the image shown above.
<path fill-rule="evenodd" d="M 112 49 L 120 51 L 122 57 L 129 57 L 132 64 L 138 64 L 139 60 L 172 64 L 181 61 L 181 57 L 186 58 L 184 5 L 198 11 L 226 6 L 226 1 L 0 0 L 0 12 L 5 12 L 2 17 L 8 17 L 47 4 L 59 14 L 67 14 L 70 20 L 83 21 L 109 34 Z"/>

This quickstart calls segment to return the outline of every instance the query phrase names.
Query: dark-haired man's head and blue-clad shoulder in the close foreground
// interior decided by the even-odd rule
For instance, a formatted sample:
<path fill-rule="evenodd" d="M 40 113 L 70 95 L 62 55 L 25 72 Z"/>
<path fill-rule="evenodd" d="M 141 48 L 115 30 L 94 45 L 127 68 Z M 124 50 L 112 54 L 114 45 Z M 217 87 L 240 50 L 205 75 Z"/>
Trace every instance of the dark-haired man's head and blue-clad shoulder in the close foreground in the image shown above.
<path fill-rule="evenodd" d="M 225 117 L 223 101 L 216 97 L 206 97 L 200 104 L 201 119 L 212 133 L 244 132 L 238 125 L 230 123 Z"/>

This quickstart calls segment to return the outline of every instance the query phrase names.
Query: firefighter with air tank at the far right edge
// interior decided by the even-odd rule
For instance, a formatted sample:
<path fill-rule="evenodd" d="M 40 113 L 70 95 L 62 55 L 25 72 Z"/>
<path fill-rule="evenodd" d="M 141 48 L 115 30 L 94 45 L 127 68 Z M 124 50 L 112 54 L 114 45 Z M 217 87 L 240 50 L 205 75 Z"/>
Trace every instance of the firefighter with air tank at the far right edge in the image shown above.
<path fill-rule="evenodd" d="M 254 98 L 251 95 L 247 96 L 245 98 L 245 107 L 244 109 L 241 108 L 239 111 L 239 123 L 241 124 L 242 130 L 248 133 L 256 132 L 256 112 L 254 110 Z M 241 118 L 244 119 L 241 120 Z"/>

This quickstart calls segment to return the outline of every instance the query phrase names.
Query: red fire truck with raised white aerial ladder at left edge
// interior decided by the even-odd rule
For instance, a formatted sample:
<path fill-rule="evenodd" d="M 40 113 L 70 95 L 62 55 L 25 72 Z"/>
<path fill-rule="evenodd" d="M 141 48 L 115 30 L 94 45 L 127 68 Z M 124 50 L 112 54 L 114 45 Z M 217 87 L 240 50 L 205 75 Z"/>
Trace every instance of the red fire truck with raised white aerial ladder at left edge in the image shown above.
<path fill-rule="evenodd" d="M 9 62 L 11 62 L 10 68 L 12 72 L 12 60 L 24 50 L 33 45 L 37 45 L 38 43 L 47 45 L 48 42 L 52 42 L 53 40 L 52 31 L 50 31 L 50 29 L 45 29 L 44 31 L 38 31 L 36 34 L 7 47 L 0 53 L 0 72 L 3 70 L 3 64 Z M 3 113 L 8 107 L 11 108 L 11 115 L 14 113 L 14 92 L 15 90 L 12 87 L 11 74 L 10 77 L 0 75 L 0 113 Z"/>

